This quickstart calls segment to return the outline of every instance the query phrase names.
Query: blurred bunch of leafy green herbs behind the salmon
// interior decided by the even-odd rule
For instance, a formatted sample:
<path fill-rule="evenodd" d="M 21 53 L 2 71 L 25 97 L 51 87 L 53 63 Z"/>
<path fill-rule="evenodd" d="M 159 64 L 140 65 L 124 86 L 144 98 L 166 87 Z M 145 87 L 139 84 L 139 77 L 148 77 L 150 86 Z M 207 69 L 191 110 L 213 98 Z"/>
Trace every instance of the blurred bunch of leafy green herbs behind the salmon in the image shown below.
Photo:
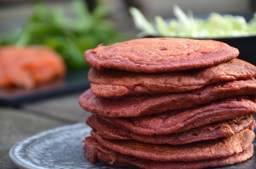
<path fill-rule="evenodd" d="M 45 45 L 60 53 L 69 69 L 80 69 L 86 66 L 84 51 L 123 38 L 106 19 L 109 11 L 103 4 L 90 13 L 84 1 L 73 0 L 71 8 L 68 16 L 61 8 L 36 3 L 24 29 L 0 38 L 0 45 Z"/>

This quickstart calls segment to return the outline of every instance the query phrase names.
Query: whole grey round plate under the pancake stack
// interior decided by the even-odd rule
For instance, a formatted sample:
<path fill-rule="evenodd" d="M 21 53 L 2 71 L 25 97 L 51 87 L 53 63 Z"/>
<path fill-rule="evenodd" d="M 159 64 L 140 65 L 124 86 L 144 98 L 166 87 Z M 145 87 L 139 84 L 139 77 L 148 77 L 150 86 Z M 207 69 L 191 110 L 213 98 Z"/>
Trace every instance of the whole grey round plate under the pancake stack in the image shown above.
<path fill-rule="evenodd" d="M 111 169 L 85 159 L 81 140 L 90 135 L 90 130 L 86 124 L 78 123 L 36 134 L 14 145 L 10 160 L 20 169 Z M 244 163 L 215 169 L 254 169 L 255 156 Z"/>

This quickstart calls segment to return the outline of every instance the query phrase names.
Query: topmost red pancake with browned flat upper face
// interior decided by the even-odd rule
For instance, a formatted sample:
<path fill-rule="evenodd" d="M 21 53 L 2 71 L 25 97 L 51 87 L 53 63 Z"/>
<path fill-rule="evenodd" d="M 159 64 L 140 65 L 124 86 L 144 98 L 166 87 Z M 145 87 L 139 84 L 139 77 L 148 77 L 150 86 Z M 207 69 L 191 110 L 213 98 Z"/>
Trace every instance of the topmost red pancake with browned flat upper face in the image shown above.
<path fill-rule="evenodd" d="M 159 73 L 212 67 L 236 58 L 239 51 L 214 40 L 160 37 L 99 45 L 84 55 L 98 70 Z"/>

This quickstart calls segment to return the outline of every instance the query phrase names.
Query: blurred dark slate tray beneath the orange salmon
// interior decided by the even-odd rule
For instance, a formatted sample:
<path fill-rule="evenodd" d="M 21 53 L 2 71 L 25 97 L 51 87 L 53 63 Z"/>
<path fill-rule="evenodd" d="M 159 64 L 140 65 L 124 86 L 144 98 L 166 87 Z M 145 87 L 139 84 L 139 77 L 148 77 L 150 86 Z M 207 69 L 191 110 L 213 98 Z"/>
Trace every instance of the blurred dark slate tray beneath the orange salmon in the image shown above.
<path fill-rule="evenodd" d="M 62 80 L 52 81 L 31 90 L 17 87 L 0 88 L 0 106 L 18 107 L 24 103 L 82 92 L 90 88 L 87 72 L 88 69 L 68 72 Z"/>

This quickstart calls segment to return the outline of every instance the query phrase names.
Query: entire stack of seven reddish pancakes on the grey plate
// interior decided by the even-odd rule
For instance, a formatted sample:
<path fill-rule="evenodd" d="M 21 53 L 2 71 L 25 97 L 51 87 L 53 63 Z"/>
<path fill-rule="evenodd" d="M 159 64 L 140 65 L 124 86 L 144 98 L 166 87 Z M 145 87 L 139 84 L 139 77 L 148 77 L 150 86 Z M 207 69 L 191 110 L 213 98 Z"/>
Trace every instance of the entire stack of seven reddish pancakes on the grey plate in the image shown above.
<path fill-rule="evenodd" d="M 213 40 L 143 38 L 85 52 L 86 157 L 114 167 L 200 169 L 252 157 L 256 67 Z"/>

